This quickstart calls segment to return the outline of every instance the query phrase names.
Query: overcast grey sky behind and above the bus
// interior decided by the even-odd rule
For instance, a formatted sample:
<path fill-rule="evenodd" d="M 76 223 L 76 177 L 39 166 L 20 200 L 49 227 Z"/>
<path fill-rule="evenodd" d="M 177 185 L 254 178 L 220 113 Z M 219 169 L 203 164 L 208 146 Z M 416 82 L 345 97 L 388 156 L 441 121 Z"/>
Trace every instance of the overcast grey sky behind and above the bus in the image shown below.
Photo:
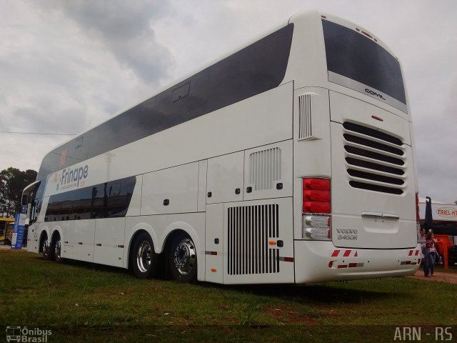
<path fill-rule="evenodd" d="M 456 201 L 454 0 L 0 0 L 0 170 L 38 170 L 70 138 L 49 134 L 109 119 L 307 9 L 356 22 L 401 59 L 421 197 Z"/>

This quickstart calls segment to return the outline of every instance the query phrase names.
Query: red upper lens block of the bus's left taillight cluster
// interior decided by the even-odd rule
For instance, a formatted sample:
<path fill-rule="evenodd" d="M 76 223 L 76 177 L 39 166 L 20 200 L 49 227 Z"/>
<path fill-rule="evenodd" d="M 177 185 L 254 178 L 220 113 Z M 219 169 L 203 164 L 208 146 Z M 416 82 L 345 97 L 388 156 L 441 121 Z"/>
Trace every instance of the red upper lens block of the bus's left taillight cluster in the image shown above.
<path fill-rule="evenodd" d="M 331 213 L 330 179 L 303 179 L 303 213 Z"/>

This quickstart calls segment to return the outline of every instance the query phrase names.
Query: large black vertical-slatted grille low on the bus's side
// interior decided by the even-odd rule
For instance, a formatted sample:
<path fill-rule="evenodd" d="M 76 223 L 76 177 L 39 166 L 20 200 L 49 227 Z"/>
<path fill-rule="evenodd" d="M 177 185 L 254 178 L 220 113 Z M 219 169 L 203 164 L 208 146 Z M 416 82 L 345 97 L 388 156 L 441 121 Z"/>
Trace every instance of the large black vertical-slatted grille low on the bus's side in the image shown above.
<path fill-rule="evenodd" d="M 278 238 L 278 205 L 229 207 L 229 275 L 279 272 L 279 249 L 268 241 Z"/>

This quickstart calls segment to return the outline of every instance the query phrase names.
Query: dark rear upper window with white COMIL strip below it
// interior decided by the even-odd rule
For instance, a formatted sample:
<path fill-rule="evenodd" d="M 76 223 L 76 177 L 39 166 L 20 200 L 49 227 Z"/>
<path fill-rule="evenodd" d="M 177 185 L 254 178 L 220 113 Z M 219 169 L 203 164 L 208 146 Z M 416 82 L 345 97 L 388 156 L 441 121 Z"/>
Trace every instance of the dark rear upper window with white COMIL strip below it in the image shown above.
<path fill-rule="evenodd" d="M 346 26 L 327 20 L 322 20 L 322 26 L 329 81 L 406 111 L 406 95 L 398 60 L 372 39 Z"/>

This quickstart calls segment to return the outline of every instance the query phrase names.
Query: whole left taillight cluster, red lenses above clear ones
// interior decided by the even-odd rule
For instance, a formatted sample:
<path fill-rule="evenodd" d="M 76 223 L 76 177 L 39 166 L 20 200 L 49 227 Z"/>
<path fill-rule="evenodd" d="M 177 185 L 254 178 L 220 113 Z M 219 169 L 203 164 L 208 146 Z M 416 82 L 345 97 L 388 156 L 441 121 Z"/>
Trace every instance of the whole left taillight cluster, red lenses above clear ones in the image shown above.
<path fill-rule="evenodd" d="M 303 179 L 303 239 L 331 239 L 330 179 Z"/>

